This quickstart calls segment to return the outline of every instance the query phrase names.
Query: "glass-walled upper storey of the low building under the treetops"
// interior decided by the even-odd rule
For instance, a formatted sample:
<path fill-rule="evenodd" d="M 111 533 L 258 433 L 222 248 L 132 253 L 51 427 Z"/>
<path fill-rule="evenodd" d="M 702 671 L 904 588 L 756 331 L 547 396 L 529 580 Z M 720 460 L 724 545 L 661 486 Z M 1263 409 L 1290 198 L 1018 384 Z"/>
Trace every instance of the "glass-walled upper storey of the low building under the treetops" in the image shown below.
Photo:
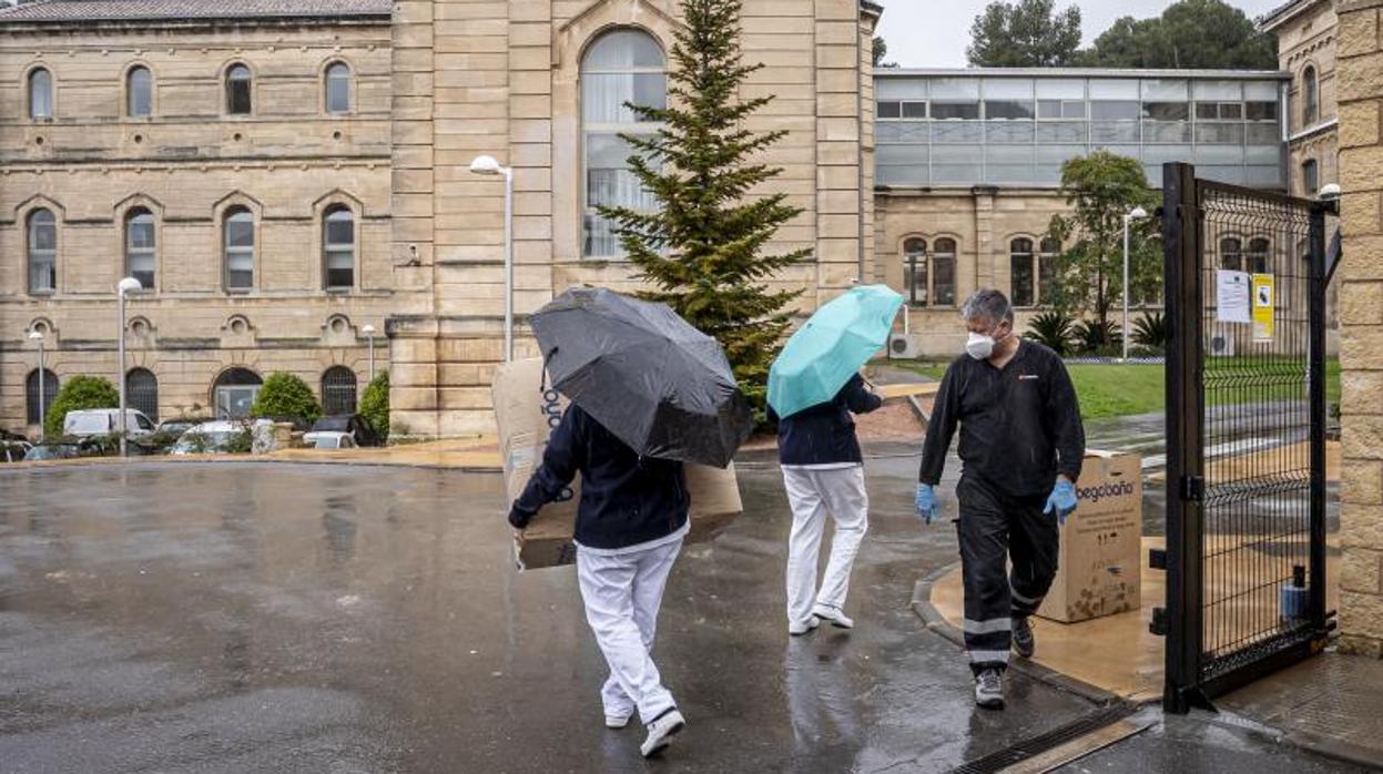
<path fill-rule="evenodd" d="M 1200 177 L 1286 189 L 1288 73 L 877 70 L 877 185 L 1055 188 L 1095 149 Z"/>

